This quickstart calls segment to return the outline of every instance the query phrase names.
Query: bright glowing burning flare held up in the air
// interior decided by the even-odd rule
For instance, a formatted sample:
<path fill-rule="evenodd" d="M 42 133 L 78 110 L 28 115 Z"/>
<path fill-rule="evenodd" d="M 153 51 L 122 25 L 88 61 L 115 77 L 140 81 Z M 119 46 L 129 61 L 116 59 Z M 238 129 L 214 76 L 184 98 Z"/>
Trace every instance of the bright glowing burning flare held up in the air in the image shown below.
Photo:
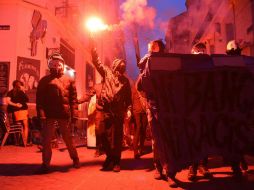
<path fill-rule="evenodd" d="M 109 29 L 109 26 L 104 24 L 103 21 L 98 17 L 91 17 L 86 22 L 86 28 L 90 32 L 98 32 Z"/>

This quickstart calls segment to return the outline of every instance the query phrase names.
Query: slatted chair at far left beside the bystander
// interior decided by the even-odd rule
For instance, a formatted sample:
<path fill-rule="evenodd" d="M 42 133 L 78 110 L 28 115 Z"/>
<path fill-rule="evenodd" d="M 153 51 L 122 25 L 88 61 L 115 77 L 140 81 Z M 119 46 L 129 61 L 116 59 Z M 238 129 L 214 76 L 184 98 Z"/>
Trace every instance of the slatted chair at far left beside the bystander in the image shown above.
<path fill-rule="evenodd" d="M 5 128 L 5 134 L 1 143 L 1 147 L 4 146 L 10 134 L 21 135 L 23 144 L 25 144 L 23 125 L 21 123 L 10 124 L 7 118 L 7 114 L 2 110 L 0 110 L 0 125 L 3 126 L 3 128 Z"/>

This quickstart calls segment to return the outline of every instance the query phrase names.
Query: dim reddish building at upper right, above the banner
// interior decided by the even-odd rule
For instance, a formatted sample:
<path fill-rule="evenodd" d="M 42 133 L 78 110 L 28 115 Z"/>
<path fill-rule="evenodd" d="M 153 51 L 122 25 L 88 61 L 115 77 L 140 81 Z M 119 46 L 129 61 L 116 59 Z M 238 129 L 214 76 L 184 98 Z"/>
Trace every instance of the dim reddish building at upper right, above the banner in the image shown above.
<path fill-rule="evenodd" d="M 166 34 L 167 50 L 190 53 L 198 42 L 209 54 L 224 54 L 230 40 L 242 53 L 254 56 L 253 0 L 188 0 L 187 11 L 172 18 Z"/>

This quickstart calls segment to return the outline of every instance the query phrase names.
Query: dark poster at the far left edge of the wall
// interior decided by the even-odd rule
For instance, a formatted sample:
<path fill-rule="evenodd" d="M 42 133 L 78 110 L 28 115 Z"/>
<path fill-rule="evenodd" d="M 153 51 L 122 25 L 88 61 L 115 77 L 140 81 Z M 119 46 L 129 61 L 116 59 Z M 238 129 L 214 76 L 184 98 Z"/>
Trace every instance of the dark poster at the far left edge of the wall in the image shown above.
<path fill-rule="evenodd" d="M 10 63 L 0 62 L 0 104 L 2 104 L 2 97 L 8 92 L 10 76 Z"/>

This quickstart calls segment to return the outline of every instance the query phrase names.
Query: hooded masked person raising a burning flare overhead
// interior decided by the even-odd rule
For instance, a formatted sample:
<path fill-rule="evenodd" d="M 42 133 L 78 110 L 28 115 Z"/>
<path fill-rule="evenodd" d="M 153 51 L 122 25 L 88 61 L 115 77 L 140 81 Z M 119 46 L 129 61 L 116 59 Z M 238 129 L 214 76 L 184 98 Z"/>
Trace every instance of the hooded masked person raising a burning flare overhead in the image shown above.
<path fill-rule="evenodd" d="M 91 53 L 93 65 L 104 80 L 97 98 L 97 106 L 100 107 L 99 120 L 106 129 L 102 135 L 106 160 L 101 170 L 111 170 L 113 164 L 113 171 L 120 172 L 124 116 L 126 112 L 131 114 L 131 88 L 124 75 L 126 63 L 122 59 L 115 59 L 109 68 L 100 62 L 95 48 Z"/>

